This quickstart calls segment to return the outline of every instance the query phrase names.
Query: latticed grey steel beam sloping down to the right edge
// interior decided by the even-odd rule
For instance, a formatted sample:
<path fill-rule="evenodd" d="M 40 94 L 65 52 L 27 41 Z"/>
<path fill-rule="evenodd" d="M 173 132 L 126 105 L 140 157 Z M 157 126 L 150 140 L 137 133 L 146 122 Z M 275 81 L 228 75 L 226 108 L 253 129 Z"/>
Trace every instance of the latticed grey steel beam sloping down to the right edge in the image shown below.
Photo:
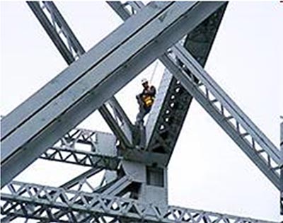
<path fill-rule="evenodd" d="M 202 66 L 181 45 L 172 50 L 191 73 L 175 66 L 173 59 L 163 56 L 161 61 L 176 76 L 192 96 L 207 110 L 222 129 L 260 171 L 279 189 L 279 150 L 241 111 L 231 98 L 204 71 Z M 199 80 L 197 82 L 195 80 Z M 262 153 L 266 155 L 262 156 Z"/>

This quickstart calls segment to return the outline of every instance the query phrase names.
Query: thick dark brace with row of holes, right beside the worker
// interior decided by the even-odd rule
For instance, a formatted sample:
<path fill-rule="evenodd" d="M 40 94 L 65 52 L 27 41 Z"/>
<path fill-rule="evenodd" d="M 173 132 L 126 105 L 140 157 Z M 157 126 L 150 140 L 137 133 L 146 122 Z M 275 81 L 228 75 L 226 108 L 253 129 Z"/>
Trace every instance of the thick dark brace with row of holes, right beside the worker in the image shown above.
<path fill-rule="evenodd" d="M 126 8 L 126 4 L 121 4 L 119 1 L 108 1 L 111 8 L 123 20 L 132 16 L 132 11 L 137 12 L 144 7 L 144 4 L 139 1 L 129 1 L 128 3 L 132 6 L 133 10 L 129 10 Z M 192 30 L 185 39 L 185 47 L 193 52 L 192 55 L 197 58 L 197 61 L 203 67 L 207 61 L 226 6 L 227 4 L 221 6 L 206 21 Z M 168 163 L 187 111 L 190 108 L 192 96 L 185 91 L 180 81 L 175 79 L 168 70 L 164 72 L 157 92 L 156 101 L 149 114 L 149 120 L 146 123 L 146 148 L 149 151 L 170 154 L 167 159 Z"/>

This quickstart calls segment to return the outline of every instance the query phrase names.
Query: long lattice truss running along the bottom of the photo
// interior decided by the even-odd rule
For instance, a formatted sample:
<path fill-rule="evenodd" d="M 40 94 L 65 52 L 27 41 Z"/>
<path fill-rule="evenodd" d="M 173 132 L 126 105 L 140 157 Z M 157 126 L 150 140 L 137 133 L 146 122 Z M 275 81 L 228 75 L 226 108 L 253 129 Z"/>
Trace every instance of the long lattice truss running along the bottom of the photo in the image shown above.
<path fill-rule="evenodd" d="M 183 207 L 158 207 L 129 198 L 45 185 L 11 182 L 6 189 L 7 192 L 1 194 L 1 199 L 5 201 L 1 205 L 2 215 L 30 217 L 47 222 L 79 222 L 76 216 L 83 216 L 88 222 L 120 222 L 121 218 L 134 222 L 270 222 Z M 62 211 L 62 215 L 54 215 L 57 210 Z"/>

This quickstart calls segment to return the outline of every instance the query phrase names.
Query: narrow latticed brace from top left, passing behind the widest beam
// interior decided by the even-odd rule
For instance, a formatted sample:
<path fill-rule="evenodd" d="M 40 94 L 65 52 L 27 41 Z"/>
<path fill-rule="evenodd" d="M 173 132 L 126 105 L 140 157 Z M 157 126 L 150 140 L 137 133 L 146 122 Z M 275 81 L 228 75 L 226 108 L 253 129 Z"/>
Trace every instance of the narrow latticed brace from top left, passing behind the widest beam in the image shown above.
<path fill-rule="evenodd" d="M 52 1 L 42 1 L 42 3 L 40 3 L 40 1 L 28 1 L 27 3 L 42 24 L 43 28 L 45 28 L 45 31 L 54 42 L 67 64 L 71 64 L 85 53 L 79 40 L 77 40 L 76 36 L 71 31 L 71 28 L 69 28 L 69 25 Z M 40 6 L 40 4 L 42 4 L 42 6 Z M 110 98 L 109 102 L 112 105 L 112 109 L 119 113 L 119 119 L 126 125 L 126 127 L 120 128 L 115 121 L 115 118 L 112 118 L 112 115 L 109 116 L 108 114 L 105 114 L 110 114 L 105 106 L 98 109 L 100 114 L 120 142 L 125 147 L 132 147 L 132 123 L 114 96 Z M 18 115 L 13 117 L 13 122 L 18 122 L 20 118 L 21 117 Z"/>

